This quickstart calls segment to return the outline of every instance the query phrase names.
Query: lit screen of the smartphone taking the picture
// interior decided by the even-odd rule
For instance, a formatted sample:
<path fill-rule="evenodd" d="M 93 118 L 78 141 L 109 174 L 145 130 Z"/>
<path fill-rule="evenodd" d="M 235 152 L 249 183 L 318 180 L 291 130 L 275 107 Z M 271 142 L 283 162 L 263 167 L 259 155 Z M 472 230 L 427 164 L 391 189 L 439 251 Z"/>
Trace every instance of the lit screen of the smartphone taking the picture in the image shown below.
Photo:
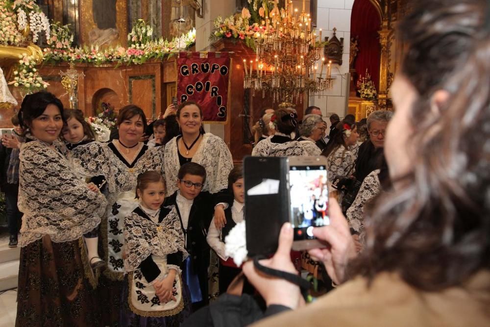
<path fill-rule="evenodd" d="M 313 227 L 328 225 L 327 171 L 319 166 L 289 168 L 291 225 L 294 240 L 311 240 Z"/>

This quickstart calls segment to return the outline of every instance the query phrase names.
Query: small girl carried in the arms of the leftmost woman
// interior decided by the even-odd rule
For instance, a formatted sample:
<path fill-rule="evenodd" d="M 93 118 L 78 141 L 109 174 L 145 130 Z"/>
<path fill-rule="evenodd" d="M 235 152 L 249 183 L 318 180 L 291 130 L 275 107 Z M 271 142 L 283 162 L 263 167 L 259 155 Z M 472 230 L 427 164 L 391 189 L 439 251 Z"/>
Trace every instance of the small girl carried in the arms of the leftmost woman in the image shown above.
<path fill-rule="evenodd" d="M 95 141 L 95 135 L 90 125 L 85 121 L 81 110 L 66 109 L 63 113 L 66 125 L 61 134 L 66 141 L 69 150 Z M 82 181 L 88 179 L 88 187 L 93 191 L 98 191 L 105 186 L 104 176 L 86 178 L 80 176 Z M 98 229 L 99 226 L 83 235 L 85 246 L 87 247 L 87 258 L 93 270 L 105 266 L 105 262 L 98 255 Z"/>

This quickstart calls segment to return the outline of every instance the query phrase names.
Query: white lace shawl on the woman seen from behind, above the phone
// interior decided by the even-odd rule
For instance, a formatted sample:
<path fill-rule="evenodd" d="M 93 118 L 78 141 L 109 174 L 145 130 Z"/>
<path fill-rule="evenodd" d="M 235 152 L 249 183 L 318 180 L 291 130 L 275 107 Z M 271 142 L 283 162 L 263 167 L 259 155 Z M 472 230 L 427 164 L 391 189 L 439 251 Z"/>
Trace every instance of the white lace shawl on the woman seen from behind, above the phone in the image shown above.
<path fill-rule="evenodd" d="M 315 154 L 310 154 L 312 153 L 312 148 L 310 145 L 305 145 L 305 146 L 303 145 L 303 143 L 308 143 L 307 141 L 298 142 L 298 141 L 291 140 L 290 142 L 286 142 L 286 143 L 273 143 L 270 140 L 272 137 L 273 136 L 270 136 L 267 139 L 257 143 L 257 145 L 252 150 L 252 155 L 260 156 L 260 157 L 287 157 L 291 155 L 297 155 L 297 156 L 315 155 Z M 315 145 L 315 143 L 313 142 L 310 143 Z M 315 147 L 317 146 L 315 145 Z"/>

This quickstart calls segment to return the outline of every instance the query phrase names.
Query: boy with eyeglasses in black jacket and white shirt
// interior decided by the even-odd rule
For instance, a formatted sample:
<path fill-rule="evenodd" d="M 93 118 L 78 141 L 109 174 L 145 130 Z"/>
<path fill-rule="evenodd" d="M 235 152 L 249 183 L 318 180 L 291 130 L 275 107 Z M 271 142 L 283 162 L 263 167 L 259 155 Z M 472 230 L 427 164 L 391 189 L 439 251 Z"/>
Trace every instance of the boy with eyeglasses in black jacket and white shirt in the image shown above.
<path fill-rule="evenodd" d="M 164 206 L 175 205 L 189 256 L 182 264 L 182 276 L 191 292 L 192 311 L 208 303 L 208 267 L 210 248 L 206 241 L 209 224 L 214 213 L 214 198 L 201 192 L 206 170 L 195 162 L 182 165 L 178 172 L 177 187 Z"/>

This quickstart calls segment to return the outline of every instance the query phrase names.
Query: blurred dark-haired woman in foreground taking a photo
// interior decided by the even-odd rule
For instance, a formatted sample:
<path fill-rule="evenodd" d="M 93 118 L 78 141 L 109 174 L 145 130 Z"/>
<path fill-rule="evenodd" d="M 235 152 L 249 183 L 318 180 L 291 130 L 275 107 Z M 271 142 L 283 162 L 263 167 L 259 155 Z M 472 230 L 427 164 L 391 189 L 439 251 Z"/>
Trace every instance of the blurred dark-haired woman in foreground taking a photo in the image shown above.
<path fill-rule="evenodd" d="M 330 226 L 313 231 L 329 248 L 309 252 L 342 285 L 254 326 L 489 326 L 489 1 L 414 2 L 384 147 L 393 191 L 365 216 L 365 248 L 356 256 L 332 201 Z M 263 264 L 293 272 L 283 235 Z M 244 272 L 268 303 L 298 307 L 293 284 Z"/>

